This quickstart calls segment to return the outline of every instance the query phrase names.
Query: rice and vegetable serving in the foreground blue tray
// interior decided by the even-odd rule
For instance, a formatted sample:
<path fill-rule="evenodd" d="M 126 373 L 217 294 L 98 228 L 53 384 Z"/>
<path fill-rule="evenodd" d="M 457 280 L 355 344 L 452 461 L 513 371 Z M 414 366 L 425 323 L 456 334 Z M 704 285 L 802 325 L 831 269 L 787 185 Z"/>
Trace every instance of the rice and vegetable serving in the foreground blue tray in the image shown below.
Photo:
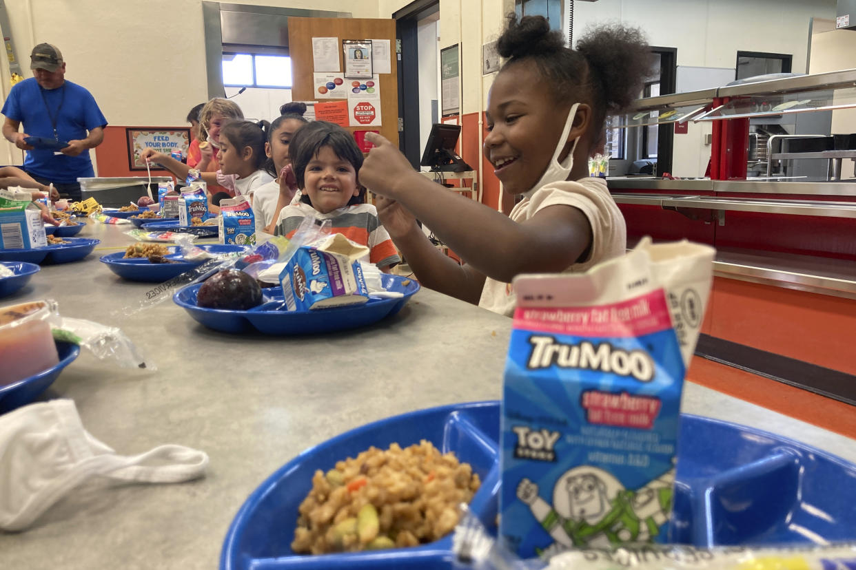
<path fill-rule="evenodd" d="M 403 450 L 369 448 L 315 472 L 291 549 L 318 555 L 431 543 L 455 528 L 458 505 L 479 485 L 473 467 L 424 439 Z"/>

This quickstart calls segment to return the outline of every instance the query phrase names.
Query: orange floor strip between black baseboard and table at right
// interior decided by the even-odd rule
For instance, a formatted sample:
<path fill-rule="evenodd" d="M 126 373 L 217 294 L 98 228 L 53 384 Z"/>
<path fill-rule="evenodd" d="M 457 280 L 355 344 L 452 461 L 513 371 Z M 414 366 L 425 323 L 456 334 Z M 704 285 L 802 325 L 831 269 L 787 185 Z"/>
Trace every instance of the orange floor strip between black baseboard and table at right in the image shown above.
<path fill-rule="evenodd" d="M 856 438 L 856 408 L 776 380 L 693 356 L 687 379 L 830 432 Z"/>

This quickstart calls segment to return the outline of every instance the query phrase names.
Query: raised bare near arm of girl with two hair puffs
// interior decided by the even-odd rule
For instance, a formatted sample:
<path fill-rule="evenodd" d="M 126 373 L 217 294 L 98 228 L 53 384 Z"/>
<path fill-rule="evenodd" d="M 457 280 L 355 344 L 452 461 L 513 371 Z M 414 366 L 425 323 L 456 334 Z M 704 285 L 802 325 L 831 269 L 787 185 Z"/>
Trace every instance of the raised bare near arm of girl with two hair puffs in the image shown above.
<path fill-rule="evenodd" d="M 368 132 L 366 139 L 375 147 L 360 183 L 401 203 L 479 273 L 509 283 L 520 273 L 560 272 L 591 244 L 591 225 L 579 209 L 549 206 L 518 223 L 417 173 L 386 138 Z M 407 257 L 401 238 L 393 236 Z"/>

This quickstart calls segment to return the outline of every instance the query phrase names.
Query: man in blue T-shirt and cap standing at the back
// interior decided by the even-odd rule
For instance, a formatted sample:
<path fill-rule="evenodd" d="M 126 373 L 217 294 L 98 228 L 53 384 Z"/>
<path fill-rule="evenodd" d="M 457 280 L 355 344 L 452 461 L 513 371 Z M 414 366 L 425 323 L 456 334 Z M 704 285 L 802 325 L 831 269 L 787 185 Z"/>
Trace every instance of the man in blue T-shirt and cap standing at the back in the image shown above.
<path fill-rule="evenodd" d="M 30 69 L 33 78 L 15 84 L 0 110 L 6 115 L 3 137 L 27 150 L 23 168 L 33 179 L 52 182 L 80 200 L 77 179 L 95 176 L 89 149 L 104 140 L 107 120 L 89 91 L 65 79 L 65 62 L 55 45 L 34 47 Z M 24 132 L 18 132 L 21 123 Z M 31 137 L 43 140 L 35 144 Z"/>

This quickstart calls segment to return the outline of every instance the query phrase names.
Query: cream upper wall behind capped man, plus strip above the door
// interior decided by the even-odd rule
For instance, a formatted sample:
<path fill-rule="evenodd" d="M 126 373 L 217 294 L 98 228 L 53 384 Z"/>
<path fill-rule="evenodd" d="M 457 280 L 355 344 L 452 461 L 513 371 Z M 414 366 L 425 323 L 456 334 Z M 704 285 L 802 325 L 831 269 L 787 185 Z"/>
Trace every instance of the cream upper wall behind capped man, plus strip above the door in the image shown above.
<path fill-rule="evenodd" d="M 377 6 L 370 2 L 229 2 L 377 17 Z M 55 44 L 67 62 L 66 78 L 92 92 L 110 124 L 183 125 L 187 111 L 207 98 L 202 0 L 16 0 L 5 4 L 25 77 L 32 76 L 33 46 Z M 5 57 L 0 58 L 0 73 L 0 96 L 5 98 L 9 89 Z M 13 155 L 13 148 L 3 141 L 0 161 L 21 163 L 21 153 L 15 150 Z"/>

